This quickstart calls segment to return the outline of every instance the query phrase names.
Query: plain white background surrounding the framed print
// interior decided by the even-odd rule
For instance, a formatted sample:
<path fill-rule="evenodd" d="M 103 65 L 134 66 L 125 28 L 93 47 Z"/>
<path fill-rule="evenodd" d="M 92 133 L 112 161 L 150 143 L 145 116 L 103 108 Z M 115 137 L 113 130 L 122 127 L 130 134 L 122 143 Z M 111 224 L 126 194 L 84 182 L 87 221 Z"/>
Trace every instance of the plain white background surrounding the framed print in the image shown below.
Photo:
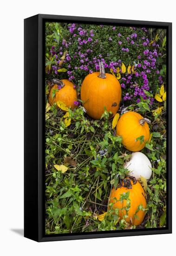
<path fill-rule="evenodd" d="M 3 0 L 0 3 L 0 252 L 8 255 L 172 255 L 176 243 L 176 186 L 173 234 L 36 243 L 23 229 L 23 19 L 37 13 L 173 22 L 173 98 L 176 95 L 174 0 Z M 35 92 L 34 92 L 35 93 Z M 176 101 L 173 102 L 173 131 Z M 173 158 L 176 153 L 173 132 Z M 175 181 L 175 159 L 173 179 Z M 176 182 L 176 181 L 175 181 Z M 174 182 L 173 182 L 174 184 Z M 19 234 L 20 233 L 20 234 Z M 127 251 L 128 253 L 127 253 Z"/>

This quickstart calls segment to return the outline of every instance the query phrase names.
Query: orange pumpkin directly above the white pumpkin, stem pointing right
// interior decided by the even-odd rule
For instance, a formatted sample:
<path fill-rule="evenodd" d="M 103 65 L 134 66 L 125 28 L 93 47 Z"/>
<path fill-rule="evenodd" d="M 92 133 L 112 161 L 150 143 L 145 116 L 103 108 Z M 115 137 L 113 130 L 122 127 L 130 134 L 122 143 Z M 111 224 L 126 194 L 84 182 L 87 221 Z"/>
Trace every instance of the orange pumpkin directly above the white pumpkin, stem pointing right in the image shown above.
<path fill-rule="evenodd" d="M 150 120 L 143 118 L 137 112 L 129 111 L 120 117 L 117 122 L 116 133 L 122 136 L 122 143 L 130 151 L 140 151 L 149 140 Z M 142 137 L 141 137 L 142 136 Z"/>

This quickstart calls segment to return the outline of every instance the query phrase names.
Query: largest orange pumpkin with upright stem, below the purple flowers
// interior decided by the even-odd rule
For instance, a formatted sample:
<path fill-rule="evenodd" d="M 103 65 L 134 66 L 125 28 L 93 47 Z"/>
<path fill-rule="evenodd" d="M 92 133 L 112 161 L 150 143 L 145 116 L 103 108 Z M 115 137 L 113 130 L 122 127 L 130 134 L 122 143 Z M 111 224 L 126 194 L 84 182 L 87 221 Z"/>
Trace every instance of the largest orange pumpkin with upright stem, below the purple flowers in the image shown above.
<path fill-rule="evenodd" d="M 114 116 L 121 100 L 121 86 L 117 78 L 105 73 L 103 62 L 100 62 L 100 73 L 88 74 L 81 86 L 81 100 L 87 114 L 93 119 L 100 119 L 104 107 Z"/>

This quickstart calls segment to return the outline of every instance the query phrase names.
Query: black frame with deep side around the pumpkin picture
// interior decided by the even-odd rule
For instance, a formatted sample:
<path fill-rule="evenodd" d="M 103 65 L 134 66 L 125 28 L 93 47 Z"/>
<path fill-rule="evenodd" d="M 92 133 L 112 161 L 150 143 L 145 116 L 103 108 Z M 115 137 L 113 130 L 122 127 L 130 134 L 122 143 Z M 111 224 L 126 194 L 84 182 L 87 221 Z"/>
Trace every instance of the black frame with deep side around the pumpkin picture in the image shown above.
<path fill-rule="evenodd" d="M 45 21 L 159 27 L 167 30 L 167 227 L 45 235 Z M 24 236 L 38 242 L 172 232 L 172 23 L 38 14 L 24 20 Z"/>

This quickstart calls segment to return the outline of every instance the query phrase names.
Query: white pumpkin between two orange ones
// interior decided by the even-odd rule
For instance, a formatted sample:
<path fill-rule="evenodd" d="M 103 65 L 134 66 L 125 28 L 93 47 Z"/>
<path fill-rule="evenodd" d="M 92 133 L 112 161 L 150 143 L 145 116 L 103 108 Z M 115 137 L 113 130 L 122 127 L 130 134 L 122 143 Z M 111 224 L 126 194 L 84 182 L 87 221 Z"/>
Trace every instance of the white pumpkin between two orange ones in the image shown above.
<path fill-rule="evenodd" d="M 139 179 L 140 176 L 149 180 L 151 177 L 150 160 L 141 152 L 133 152 L 129 161 L 124 163 L 124 168 L 130 171 L 129 175 Z"/>

